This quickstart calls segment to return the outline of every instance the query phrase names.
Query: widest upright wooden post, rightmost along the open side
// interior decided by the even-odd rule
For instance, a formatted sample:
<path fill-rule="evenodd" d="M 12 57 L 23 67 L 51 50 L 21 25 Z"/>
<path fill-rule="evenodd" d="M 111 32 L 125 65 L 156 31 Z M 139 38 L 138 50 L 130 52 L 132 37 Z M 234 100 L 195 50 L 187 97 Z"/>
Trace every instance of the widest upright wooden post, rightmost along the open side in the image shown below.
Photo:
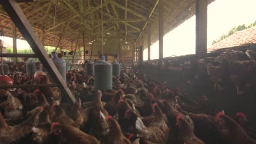
<path fill-rule="evenodd" d="M 207 0 L 196 0 L 196 57 L 207 53 Z"/>

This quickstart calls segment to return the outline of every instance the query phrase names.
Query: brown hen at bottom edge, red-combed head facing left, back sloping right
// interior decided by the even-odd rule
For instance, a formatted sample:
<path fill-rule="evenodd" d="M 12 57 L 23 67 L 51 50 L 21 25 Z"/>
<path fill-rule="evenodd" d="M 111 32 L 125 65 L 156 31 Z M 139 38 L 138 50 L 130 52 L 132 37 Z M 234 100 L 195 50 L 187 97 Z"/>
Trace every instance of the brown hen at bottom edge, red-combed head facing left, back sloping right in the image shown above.
<path fill-rule="evenodd" d="M 71 125 L 63 125 L 60 123 L 51 123 L 51 131 L 57 136 L 60 136 L 60 143 L 91 143 L 100 144 L 100 142 L 94 137 L 90 136 Z"/>

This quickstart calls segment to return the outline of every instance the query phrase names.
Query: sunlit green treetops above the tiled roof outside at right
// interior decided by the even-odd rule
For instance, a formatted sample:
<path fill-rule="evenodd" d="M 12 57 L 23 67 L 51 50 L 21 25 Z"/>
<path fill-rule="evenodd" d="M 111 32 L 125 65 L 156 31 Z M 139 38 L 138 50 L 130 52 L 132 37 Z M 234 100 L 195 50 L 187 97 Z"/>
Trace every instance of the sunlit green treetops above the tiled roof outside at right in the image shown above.
<path fill-rule="evenodd" d="M 254 27 L 254 26 L 256 26 L 256 21 L 253 22 L 253 23 L 251 23 L 251 24 L 248 25 L 248 26 L 245 26 L 245 24 L 243 24 L 243 25 L 239 25 L 239 26 L 237 26 L 237 27 L 231 28 L 231 29 L 229 30 L 228 34 L 222 34 L 222 35 L 220 35 L 220 37 L 219 37 L 218 40 L 213 40 L 213 41 L 212 41 L 212 45 L 218 43 L 220 40 L 223 40 L 223 39 L 225 39 L 225 38 L 228 38 L 230 35 L 234 34 L 235 32 L 242 31 L 242 30 L 244 30 L 244 29 L 251 28 L 251 27 Z"/>

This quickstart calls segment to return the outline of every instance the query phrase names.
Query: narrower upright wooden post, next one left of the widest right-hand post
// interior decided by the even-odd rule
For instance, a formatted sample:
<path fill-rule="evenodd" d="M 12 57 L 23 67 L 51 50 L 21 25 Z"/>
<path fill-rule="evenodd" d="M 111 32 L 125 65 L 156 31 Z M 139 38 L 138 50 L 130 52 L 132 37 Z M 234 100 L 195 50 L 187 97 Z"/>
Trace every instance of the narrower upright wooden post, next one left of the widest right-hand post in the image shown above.
<path fill-rule="evenodd" d="M 163 0 L 159 0 L 158 4 L 158 24 L 159 24 L 159 59 L 162 59 L 164 56 L 164 7 Z"/>

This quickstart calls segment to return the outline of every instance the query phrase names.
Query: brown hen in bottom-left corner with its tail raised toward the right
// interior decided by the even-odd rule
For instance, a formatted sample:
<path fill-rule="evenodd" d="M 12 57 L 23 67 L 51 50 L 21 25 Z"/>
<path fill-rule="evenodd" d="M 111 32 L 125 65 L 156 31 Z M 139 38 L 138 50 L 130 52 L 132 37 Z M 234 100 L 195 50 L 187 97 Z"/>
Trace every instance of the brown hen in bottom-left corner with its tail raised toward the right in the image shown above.
<path fill-rule="evenodd" d="M 33 115 L 19 125 L 9 126 L 5 123 L 2 114 L 0 113 L 0 143 L 14 143 L 26 137 L 31 133 L 32 127 L 38 124 L 39 113 L 42 112 L 42 107 L 37 107 Z"/>

